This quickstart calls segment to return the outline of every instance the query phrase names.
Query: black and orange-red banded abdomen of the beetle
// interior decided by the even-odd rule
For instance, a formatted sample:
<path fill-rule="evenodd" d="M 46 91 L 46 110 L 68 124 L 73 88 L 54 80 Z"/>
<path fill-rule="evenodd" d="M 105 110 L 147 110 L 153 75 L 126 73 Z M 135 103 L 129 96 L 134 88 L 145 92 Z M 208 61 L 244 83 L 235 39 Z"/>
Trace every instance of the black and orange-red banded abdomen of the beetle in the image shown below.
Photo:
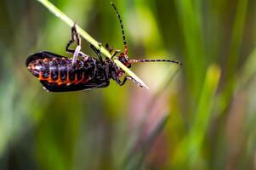
<path fill-rule="evenodd" d="M 69 58 L 44 58 L 32 60 L 27 68 L 39 79 L 54 85 L 70 86 L 72 84 L 86 83 L 90 79 L 84 70 L 84 62 L 77 59 L 75 65 L 71 65 Z"/>

